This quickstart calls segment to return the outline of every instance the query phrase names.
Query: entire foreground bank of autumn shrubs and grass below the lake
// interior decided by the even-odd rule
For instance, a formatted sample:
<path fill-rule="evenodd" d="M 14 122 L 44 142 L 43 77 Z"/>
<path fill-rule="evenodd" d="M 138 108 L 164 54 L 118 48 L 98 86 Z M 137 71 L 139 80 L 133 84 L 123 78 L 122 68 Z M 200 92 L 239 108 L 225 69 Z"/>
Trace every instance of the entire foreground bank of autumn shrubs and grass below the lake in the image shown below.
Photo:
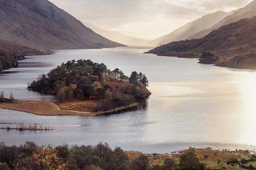
<path fill-rule="evenodd" d="M 8 146 L 2 143 L 0 155 L 0 165 L 5 163 L 5 167 L 7 167 L 4 169 L 32 169 L 31 167 L 36 167 L 33 169 L 49 169 L 49 166 L 44 166 L 46 162 L 53 166 L 51 169 L 57 169 L 53 163 L 60 163 L 65 165 L 64 169 L 146 170 L 238 170 L 249 169 L 250 165 L 256 164 L 254 153 L 247 150 L 219 151 L 211 148 L 189 147 L 186 150 L 172 152 L 172 154 L 143 154 L 139 151 L 125 151 L 121 147 L 113 149 L 108 143 L 102 142 L 95 146 L 68 146 L 65 144 L 39 146 L 34 142 L 26 142 L 25 145 L 20 146 Z M 96 158 L 98 161 L 95 161 Z M 108 165 L 110 165 L 109 168 Z M 39 166 L 40 168 L 38 168 Z"/>

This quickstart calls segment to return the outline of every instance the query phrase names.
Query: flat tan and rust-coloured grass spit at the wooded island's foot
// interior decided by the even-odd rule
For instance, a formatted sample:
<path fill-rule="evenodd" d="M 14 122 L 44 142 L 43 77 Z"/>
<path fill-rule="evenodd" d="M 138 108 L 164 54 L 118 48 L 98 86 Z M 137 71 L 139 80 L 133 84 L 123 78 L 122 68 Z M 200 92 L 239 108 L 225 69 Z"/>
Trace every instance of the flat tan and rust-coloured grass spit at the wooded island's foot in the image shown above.
<path fill-rule="evenodd" d="M 101 114 L 114 113 L 123 109 L 135 107 L 137 103 L 127 107 L 118 107 L 110 111 L 91 112 L 96 101 L 69 101 L 65 103 L 53 103 L 51 101 L 15 101 L 14 103 L 0 103 L 0 108 L 13 111 L 32 113 L 42 116 L 99 116 Z"/>

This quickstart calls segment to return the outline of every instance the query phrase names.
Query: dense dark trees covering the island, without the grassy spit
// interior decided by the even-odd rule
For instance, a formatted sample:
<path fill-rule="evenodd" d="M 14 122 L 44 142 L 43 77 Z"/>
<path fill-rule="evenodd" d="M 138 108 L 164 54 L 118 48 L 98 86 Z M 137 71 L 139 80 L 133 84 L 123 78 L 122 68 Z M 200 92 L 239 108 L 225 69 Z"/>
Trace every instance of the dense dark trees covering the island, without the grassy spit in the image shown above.
<path fill-rule="evenodd" d="M 146 98 L 151 94 L 147 86 L 148 79 L 143 73 L 134 71 L 126 76 L 118 68 L 111 71 L 104 63 L 79 59 L 39 75 L 28 84 L 28 89 L 55 94 L 60 102 L 98 100 L 101 104 L 96 110 L 108 110 Z"/>

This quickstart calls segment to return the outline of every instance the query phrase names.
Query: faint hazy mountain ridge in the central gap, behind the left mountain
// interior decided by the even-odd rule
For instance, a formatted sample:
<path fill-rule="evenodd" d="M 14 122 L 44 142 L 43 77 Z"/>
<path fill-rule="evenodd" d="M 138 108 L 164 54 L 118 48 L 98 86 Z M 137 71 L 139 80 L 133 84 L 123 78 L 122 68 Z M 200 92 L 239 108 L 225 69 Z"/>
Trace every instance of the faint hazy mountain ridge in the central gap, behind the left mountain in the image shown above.
<path fill-rule="evenodd" d="M 138 39 L 136 37 L 127 36 L 123 33 L 119 33 L 116 31 L 108 31 L 105 29 L 97 28 L 92 24 L 85 23 L 86 27 L 89 27 L 94 32 L 100 34 L 101 36 L 106 37 L 109 40 L 119 42 L 125 45 L 135 45 L 135 46 L 143 46 L 146 45 L 150 40 Z"/>

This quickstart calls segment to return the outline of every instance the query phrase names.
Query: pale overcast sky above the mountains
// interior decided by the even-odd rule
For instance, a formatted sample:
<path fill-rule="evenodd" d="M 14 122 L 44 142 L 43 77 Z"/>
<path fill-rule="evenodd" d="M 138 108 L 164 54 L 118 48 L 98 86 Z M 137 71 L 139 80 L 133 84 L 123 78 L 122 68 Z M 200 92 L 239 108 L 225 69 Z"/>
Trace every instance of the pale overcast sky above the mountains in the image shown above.
<path fill-rule="evenodd" d="M 144 39 L 166 35 L 205 14 L 252 0 L 49 0 L 83 23 Z"/>

